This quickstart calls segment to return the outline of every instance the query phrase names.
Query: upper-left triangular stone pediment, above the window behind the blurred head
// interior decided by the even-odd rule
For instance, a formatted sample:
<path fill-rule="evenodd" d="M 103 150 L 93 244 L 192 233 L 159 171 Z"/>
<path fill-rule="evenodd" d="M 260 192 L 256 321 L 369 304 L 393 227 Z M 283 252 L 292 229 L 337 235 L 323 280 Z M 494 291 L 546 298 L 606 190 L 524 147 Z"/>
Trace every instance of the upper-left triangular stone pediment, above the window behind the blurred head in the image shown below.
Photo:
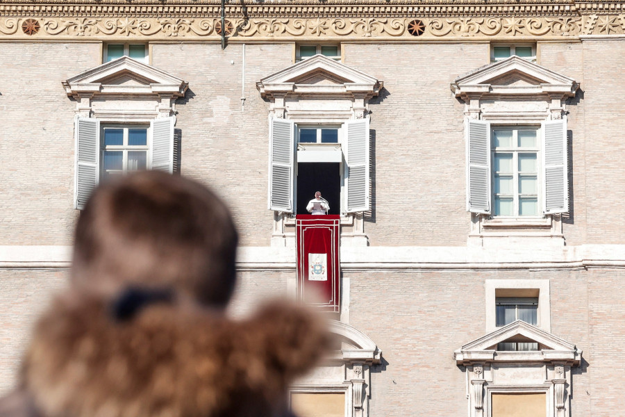
<path fill-rule="evenodd" d="M 103 63 L 63 81 L 68 95 L 125 93 L 184 95 L 187 83 L 168 72 L 128 56 Z"/>

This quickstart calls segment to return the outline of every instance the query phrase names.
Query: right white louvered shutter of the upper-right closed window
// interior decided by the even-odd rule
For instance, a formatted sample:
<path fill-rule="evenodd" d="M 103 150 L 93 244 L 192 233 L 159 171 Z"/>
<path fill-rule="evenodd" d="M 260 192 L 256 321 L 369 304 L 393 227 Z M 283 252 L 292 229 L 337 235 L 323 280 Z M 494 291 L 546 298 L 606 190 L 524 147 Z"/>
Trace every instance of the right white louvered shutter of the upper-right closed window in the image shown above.
<path fill-rule="evenodd" d="M 543 210 L 546 214 L 566 213 L 569 211 L 567 122 L 544 122 L 542 132 Z"/>

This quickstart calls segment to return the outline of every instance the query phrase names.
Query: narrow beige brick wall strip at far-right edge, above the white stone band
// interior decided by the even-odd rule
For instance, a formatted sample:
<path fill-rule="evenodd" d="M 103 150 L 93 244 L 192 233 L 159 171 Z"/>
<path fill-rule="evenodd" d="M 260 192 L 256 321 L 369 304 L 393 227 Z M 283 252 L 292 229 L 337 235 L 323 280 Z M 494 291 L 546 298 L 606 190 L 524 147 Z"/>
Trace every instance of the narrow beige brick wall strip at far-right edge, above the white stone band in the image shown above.
<path fill-rule="evenodd" d="M 587 243 L 623 243 L 625 42 L 583 42 Z"/>

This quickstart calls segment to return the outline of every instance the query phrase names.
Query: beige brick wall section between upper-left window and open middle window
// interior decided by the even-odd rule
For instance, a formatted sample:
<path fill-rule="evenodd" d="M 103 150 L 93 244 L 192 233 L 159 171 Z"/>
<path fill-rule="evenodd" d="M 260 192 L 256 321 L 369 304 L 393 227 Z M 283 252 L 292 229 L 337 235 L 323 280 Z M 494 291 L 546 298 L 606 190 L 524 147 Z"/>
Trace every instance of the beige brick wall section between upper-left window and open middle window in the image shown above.
<path fill-rule="evenodd" d="M 244 108 L 242 45 L 222 51 L 216 43 L 155 44 L 152 51 L 153 65 L 189 82 L 191 91 L 176 104 L 183 174 L 208 183 L 226 199 L 242 245 L 269 245 L 269 103 L 260 98 L 256 81 L 291 65 L 292 45 L 246 45 Z"/>

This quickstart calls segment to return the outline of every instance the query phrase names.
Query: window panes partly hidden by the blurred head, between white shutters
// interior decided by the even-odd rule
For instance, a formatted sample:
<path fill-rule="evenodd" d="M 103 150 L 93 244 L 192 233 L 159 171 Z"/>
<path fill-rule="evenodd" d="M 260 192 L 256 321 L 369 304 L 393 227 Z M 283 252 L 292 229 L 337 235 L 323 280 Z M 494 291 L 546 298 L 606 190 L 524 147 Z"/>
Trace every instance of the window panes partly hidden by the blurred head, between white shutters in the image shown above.
<path fill-rule="evenodd" d="M 147 170 L 147 126 L 102 128 L 102 179 L 126 172 Z"/>

